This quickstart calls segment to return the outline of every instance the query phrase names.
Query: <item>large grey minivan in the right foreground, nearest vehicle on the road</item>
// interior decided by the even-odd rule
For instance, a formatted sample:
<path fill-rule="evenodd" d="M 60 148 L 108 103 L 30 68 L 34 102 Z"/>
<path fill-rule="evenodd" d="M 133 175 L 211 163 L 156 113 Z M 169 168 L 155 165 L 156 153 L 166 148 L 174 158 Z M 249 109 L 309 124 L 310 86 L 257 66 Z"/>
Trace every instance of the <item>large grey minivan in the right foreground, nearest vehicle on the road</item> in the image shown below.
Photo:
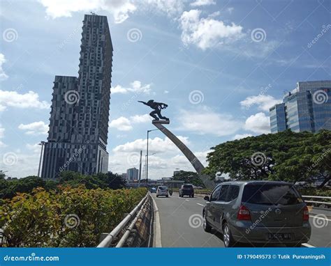
<path fill-rule="evenodd" d="M 300 247 L 310 239 L 307 205 L 288 182 L 223 182 L 205 200 L 203 228 L 219 231 L 225 247 L 240 243 Z"/>

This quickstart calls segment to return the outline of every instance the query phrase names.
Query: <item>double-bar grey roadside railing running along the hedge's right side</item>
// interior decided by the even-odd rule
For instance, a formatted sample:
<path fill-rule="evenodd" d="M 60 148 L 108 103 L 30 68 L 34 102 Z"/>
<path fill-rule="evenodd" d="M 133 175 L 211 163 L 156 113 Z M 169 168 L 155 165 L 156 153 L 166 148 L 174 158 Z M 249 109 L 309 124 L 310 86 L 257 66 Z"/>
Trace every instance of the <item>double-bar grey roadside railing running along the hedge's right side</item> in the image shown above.
<path fill-rule="evenodd" d="M 137 206 L 131 212 L 126 215 L 126 217 L 112 230 L 102 241 L 100 244 L 98 244 L 97 247 L 110 247 L 112 242 L 115 241 L 115 238 L 121 231 L 127 226 L 127 224 L 133 219 L 130 226 L 128 226 L 128 229 L 126 230 L 126 233 L 122 236 L 122 238 L 119 240 L 116 247 L 122 247 L 125 243 L 128 235 L 130 234 L 131 230 L 133 229 L 133 226 L 135 225 L 135 222 L 138 220 L 138 217 L 140 216 L 140 213 L 142 212 L 142 209 L 147 202 L 147 198 L 149 197 L 149 193 L 145 196 L 145 198 L 142 198 L 140 203 L 138 203 Z M 135 215 L 138 212 L 137 215 Z"/>

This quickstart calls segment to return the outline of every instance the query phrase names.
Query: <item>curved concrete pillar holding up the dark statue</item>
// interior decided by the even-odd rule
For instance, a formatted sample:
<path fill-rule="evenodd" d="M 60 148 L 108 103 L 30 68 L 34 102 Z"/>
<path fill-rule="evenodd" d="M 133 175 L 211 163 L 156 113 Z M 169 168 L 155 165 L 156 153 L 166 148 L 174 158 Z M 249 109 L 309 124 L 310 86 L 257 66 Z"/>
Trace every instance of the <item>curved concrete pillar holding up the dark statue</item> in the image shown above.
<path fill-rule="evenodd" d="M 213 180 L 210 180 L 208 175 L 201 174 L 203 169 L 205 169 L 205 166 L 201 164 L 199 159 L 196 157 L 196 155 L 191 152 L 187 146 L 180 141 L 180 139 L 175 136 L 175 134 L 172 134 L 170 130 L 168 130 L 166 127 L 164 127 L 162 124 L 168 124 L 169 121 L 161 121 L 161 120 L 153 120 L 153 125 L 155 125 L 165 136 L 168 136 L 168 138 L 183 152 L 185 157 L 189 160 L 189 162 L 192 164 L 194 169 L 196 169 L 196 172 L 200 175 L 200 179 L 203 181 L 203 184 L 207 187 L 207 189 L 213 189 L 215 186 L 215 183 Z"/>

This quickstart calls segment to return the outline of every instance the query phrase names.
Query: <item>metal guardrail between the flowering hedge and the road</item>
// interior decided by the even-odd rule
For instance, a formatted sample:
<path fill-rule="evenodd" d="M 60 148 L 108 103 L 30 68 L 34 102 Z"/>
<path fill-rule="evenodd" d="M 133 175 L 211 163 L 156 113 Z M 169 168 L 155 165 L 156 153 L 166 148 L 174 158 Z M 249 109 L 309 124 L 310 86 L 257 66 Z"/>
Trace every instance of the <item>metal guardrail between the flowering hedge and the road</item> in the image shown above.
<path fill-rule="evenodd" d="M 123 228 L 125 228 L 125 226 L 131 221 L 131 219 L 133 217 L 138 219 L 138 216 L 140 215 L 142 207 L 145 204 L 145 202 L 147 201 L 148 197 L 149 197 L 149 192 L 147 192 L 145 198 L 142 198 L 140 203 L 138 203 L 138 205 L 135 206 L 135 208 L 133 210 L 131 210 L 131 212 L 128 215 L 126 215 L 126 217 L 105 237 L 104 240 L 102 240 L 100 242 L 100 244 L 98 244 L 97 247 L 110 247 L 110 245 L 112 244 L 112 242 L 114 242 L 117 235 L 119 235 L 119 233 L 121 233 Z M 138 210 L 140 210 L 140 211 L 138 212 Z M 135 215 L 136 212 L 138 212 L 138 215 Z M 132 225 L 132 223 L 131 223 L 131 225 Z M 129 226 L 129 228 L 131 228 L 131 225 Z M 133 228 L 133 226 L 134 226 L 134 224 L 132 225 L 132 228 Z M 132 228 L 131 228 L 131 230 L 132 230 Z M 128 237 L 128 234 L 130 232 L 128 232 L 128 233 L 127 232 L 128 232 L 128 230 L 126 230 L 126 233 L 124 233 L 123 237 L 124 236 L 126 236 L 126 238 Z M 122 237 L 122 239 L 123 239 L 123 237 Z M 121 240 L 120 240 L 120 242 L 121 242 Z M 122 242 L 122 244 L 124 244 L 124 242 Z"/>

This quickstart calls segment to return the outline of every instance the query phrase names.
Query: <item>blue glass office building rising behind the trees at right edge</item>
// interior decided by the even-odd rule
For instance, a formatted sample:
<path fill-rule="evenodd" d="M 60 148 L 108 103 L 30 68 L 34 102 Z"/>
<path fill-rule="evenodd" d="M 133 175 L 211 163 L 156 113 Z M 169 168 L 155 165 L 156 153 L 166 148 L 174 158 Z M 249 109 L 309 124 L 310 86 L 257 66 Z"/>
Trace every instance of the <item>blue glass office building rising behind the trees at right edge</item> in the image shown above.
<path fill-rule="evenodd" d="M 331 81 L 302 81 L 270 108 L 272 133 L 331 130 Z"/>

